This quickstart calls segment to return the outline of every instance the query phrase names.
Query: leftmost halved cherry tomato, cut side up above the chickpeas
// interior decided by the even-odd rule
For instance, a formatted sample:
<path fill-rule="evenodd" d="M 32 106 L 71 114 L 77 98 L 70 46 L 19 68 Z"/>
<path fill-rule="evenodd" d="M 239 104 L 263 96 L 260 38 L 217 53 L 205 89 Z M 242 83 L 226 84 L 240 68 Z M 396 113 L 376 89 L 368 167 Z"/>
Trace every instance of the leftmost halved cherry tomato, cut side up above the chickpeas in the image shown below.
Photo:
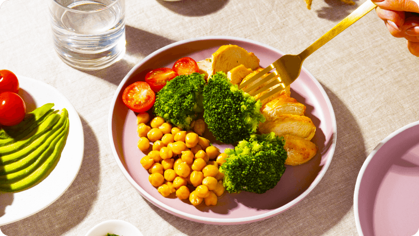
<path fill-rule="evenodd" d="M 156 99 L 150 85 L 144 81 L 134 82 L 122 94 L 122 101 L 133 112 L 146 112 L 152 108 Z"/>

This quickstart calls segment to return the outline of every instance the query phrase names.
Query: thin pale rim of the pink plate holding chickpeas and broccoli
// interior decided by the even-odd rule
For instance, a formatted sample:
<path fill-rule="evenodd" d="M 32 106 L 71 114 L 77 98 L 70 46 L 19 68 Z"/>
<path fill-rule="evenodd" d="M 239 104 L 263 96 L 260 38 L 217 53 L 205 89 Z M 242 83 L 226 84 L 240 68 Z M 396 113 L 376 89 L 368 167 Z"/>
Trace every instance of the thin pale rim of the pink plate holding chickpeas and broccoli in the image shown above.
<path fill-rule="evenodd" d="M 189 213 L 185 213 L 185 212 L 181 212 L 178 211 L 166 204 L 163 204 L 162 202 L 160 202 L 159 200 L 157 200 L 156 198 L 152 197 L 150 194 L 148 194 L 145 190 L 143 190 L 134 180 L 132 177 L 130 177 L 130 174 L 128 173 L 128 171 L 124 168 L 124 166 L 122 165 L 121 161 L 119 161 L 119 157 L 118 154 L 116 153 L 115 150 L 115 143 L 113 140 L 113 135 L 112 135 L 112 117 L 113 117 L 113 111 L 114 111 L 114 107 L 115 107 L 115 103 L 116 103 L 116 99 L 118 98 L 119 92 L 121 91 L 122 87 L 124 86 L 124 84 L 126 83 L 126 81 L 132 76 L 132 74 L 142 65 L 144 64 L 147 60 L 151 59 L 152 57 L 154 57 L 155 55 L 171 48 L 171 47 L 175 47 L 181 44 L 186 44 L 186 43 L 190 43 L 193 41 L 199 41 L 199 40 L 236 40 L 236 41 L 244 41 L 244 42 L 248 42 L 248 43 L 253 43 L 253 44 L 257 44 L 263 47 L 268 48 L 269 50 L 278 52 L 282 55 L 285 55 L 285 53 L 283 53 L 282 51 L 269 46 L 265 43 L 262 42 L 258 42 L 252 39 L 245 39 L 245 38 L 239 38 L 239 37 L 231 37 L 231 36 L 204 36 L 204 37 L 196 37 L 196 38 L 191 38 L 191 39 L 184 39 L 184 40 L 180 40 L 177 42 L 173 42 L 169 45 L 166 45 L 154 52 L 152 52 L 151 54 L 149 54 L 147 57 L 145 57 L 144 59 L 140 60 L 129 72 L 128 74 L 124 77 L 124 79 L 121 80 L 121 82 L 119 83 L 117 89 L 115 90 L 115 94 L 114 97 L 112 98 L 111 101 L 111 106 L 110 106 L 110 110 L 109 110 L 109 115 L 108 115 L 108 135 L 109 135 L 109 141 L 111 143 L 111 149 L 112 149 L 112 153 L 114 154 L 114 160 L 116 161 L 119 169 L 122 171 L 124 177 L 131 183 L 131 185 L 133 185 L 133 187 L 140 192 L 140 194 L 145 197 L 148 201 L 150 201 L 152 204 L 154 204 L 155 206 L 159 207 L 160 209 L 171 213 L 172 215 L 175 216 L 179 216 L 181 218 L 185 218 L 189 219 L 191 221 L 196 221 L 196 222 L 200 222 L 200 223 L 207 223 L 207 224 L 240 224 L 240 223 L 250 223 L 250 222 L 254 222 L 254 221 L 259 221 L 259 220 L 263 220 L 266 219 L 268 217 L 271 216 L 275 216 L 280 214 L 281 212 L 284 212 L 286 210 L 288 210 L 290 207 L 292 207 L 293 205 L 297 204 L 298 202 L 300 202 L 302 199 L 304 199 L 316 186 L 317 184 L 321 181 L 321 179 L 324 177 L 324 174 L 326 173 L 327 169 L 330 166 L 330 163 L 333 159 L 334 153 L 335 153 L 335 148 L 336 148 L 336 140 L 337 140 L 337 125 L 336 125 L 336 117 L 335 117 L 335 112 L 333 110 L 333 106 L 331 104 L 330 98 L 327 96 L 327 93 L 325 92 L 323 86 L 320 84 L 320 82 L 307 70 L 305 69 L 305 67 L 302 67 L 302 70 L 305 71 L 305 73 L 307 73 L 310 77 L 312 77 L 314 80 L 313 82 L 318 86 L 320 92 L 323 94 L 324 98 L 326 98 L 326 103 L 327 103 L 327 107 L 330 111 L 330 117 L 332 119 L 332 129 L 333 129 L 333 134 L 331 137 L 331 144 L 328 148 L 329 152 L 331 152 L 331 158 L 329 158 L 325 163 L 324 163 L 324 167 L 322 168 L 322 171 L 319 172 L 319 175 L 313 180 L 313 182 L 310 184 L 310 186 L 302 193 L 300 194 L 298 197 L 296 197 L 295 199 L 293 199 L 292 201 L 288 202 L 287 204 L 285 204 L 284 206 L 274 209 L 272 211 L 269 211 L 267 213 L 264 214 L 260 214 L 257 216 L 247 216 L 247 217 L 243 217 L 243 218 L 209 218 L 209 217 L 204 217 L 204 216 L 195 216 Z M 211 221 L 209 221 L 209 219 L 211 219 Z"/>

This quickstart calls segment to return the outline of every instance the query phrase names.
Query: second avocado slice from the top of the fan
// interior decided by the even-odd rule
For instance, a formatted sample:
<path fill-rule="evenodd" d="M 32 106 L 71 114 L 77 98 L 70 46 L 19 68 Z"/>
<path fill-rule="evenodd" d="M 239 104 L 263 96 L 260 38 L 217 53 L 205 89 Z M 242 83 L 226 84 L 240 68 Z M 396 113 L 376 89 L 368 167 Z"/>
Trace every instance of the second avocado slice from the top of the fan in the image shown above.
<path fill-rule="evenodd" d="M 6 156 L 10 153 L 17 152 L 20 149 L 31 144 L 33 140 L 35 140 L 40 135 L 42 135 L 45 131 L 50 129 L 58 121 L 59 118 L 60 118 L 60 115 L 51 114 L 47 119 L 45 119 L 44 122 L 38 125 L 37 129 L 32 130 L 32 132 L 29 133 L 25 138 L 22 138 L 21 140 L 14 142 L 12 144 L 9 144 L 7 146 L 0 147 L 0 162 L 1 163 L 5 162 L 5 160 L 3 160 L 1 157 Z"/>

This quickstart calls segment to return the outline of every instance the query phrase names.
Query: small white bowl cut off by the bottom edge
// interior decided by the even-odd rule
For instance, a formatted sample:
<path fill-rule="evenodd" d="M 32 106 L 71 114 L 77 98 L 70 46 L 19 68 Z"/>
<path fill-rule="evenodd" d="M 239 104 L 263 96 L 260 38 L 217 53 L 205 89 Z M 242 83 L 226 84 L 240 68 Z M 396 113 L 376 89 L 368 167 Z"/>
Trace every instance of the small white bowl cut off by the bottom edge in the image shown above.
<path fill-rule="evenodd" d="M 106 236 L 108 233 L 118 236 L 143 236 L 135 226 L 119 219 L 103 221 L 95 225 L 85 236 Z"/>

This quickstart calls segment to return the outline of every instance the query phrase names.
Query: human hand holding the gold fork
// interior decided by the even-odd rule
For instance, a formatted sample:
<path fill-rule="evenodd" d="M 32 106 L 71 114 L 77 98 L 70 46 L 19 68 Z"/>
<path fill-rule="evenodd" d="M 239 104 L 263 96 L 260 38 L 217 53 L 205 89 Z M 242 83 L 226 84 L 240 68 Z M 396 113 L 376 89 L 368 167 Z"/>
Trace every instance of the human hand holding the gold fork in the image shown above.
<path fill-rule="evenodd" d="M 376 12 L 384 20 L 390 34 L 407 39 L 410 53 L 419 57 L 419 5 L 418 0 L 371 0 Z"/>

